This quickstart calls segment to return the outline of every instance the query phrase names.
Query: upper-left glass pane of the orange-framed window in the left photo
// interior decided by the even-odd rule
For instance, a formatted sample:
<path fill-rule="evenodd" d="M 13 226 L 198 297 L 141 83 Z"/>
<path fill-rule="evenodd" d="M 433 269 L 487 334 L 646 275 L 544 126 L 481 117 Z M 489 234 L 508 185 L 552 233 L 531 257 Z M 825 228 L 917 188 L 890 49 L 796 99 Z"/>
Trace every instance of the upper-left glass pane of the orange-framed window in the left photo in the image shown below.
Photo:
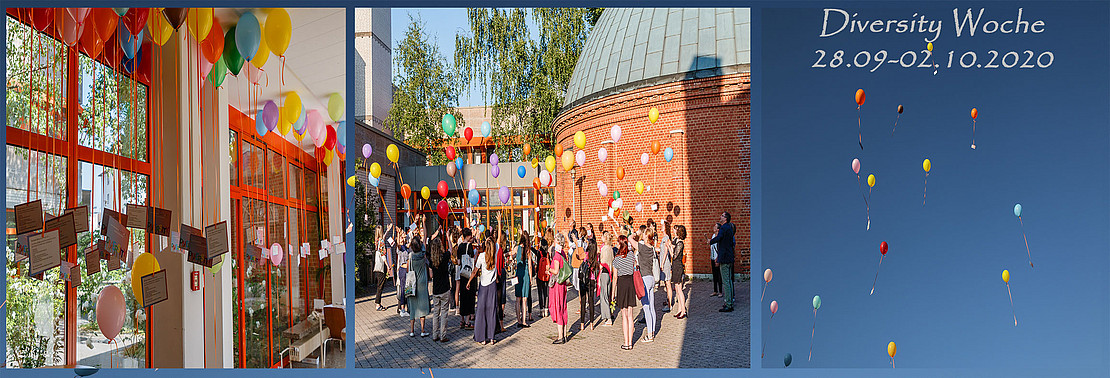
<path fill-rule="evenodd" d="M 8 126 L 65 139 L 65 47 L 8 17 Z"/>

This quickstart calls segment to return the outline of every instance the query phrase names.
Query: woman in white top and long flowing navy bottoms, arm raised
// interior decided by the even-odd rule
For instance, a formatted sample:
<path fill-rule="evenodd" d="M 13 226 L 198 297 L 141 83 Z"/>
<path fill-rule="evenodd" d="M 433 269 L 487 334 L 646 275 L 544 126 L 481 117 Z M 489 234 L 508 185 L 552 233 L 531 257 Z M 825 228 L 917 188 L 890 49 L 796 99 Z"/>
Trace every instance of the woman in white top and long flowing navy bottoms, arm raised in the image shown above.
<path fill-rule="evenodd" d="M 497 343 L 494 334 L 497 331 L 497 256 L 494 254 L 493 241 L 486 239 L 478 252 L 474 274 L 466 280 L 466 287 L 478 280 L 477 316 L 474 319 L 474 343 L 488 345 Z"/>

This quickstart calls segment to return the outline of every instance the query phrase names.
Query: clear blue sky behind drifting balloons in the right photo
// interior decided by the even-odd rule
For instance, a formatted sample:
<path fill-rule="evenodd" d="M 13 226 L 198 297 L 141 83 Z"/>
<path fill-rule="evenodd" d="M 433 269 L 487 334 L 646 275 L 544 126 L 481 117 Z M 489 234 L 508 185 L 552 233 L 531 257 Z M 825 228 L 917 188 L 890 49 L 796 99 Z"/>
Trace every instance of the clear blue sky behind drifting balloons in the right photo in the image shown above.
<path fill-rule="evenodd" d="M 1013 20 L 1019 7 L 1022 19 L 1043 20 L 1046 32 L 956 38 L 953 7 L 845 9 L 861 20 L 915 12 L 944 20 L 937 63 L 947 64 L 950 50 L 957 59 L 977 51 L 979 63 L 988 50 L 999 58 L 1051 51 L 1048 69 L 815 69 L 818 49 L 842 49 L 849 60 L 886 49 L 897 59 L 920 55 L 926 43 L 922 34 L 821 39 L 820 9 L 764 11 L 760 252 L 763 268 L 775 272 L 761 305 L 764 366 L 781 367 L 791 353 L 791 367 L 890 367 L 886 346 L 894 340 L 898 368 L 1108 371 L 1107 4 L 992 3 L 985 18 Z M 891 136 L 899 104 L 905 113 Z M 971 108 L 979 110 L 975 151 Z M 878 178 L 870 231 L 850 168 L 857 157 L 864 191 L 868 174 Z M 1016 203 L 1025 207 L 1036 269 Z M 882 241 L 889 253 L 869 296 Z M 1010 270 L 1017 327 L 1002 269 Z M 823 305 L 807 361 L 814 295 Z M 779 310 L 768 325 L 773 299 Z"/>

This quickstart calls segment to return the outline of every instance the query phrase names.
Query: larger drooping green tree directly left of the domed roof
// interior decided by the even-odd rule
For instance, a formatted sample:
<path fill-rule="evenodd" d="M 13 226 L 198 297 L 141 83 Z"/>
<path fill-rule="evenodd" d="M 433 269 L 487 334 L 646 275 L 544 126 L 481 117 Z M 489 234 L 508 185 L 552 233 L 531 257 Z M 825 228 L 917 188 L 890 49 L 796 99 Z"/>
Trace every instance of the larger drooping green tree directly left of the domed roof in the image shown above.
<path fill-rule="evenodd" d="M 467 10 L 471 30 L 455 35 L 455 68 L 462 85 L 481 86 L 484 100 L 493 101 L 498 154 L 523 159 L 518 140 L 531 143 L 535 155 L 551 153 L 555 116 L 602 10 Z M 535 39 L 528 32 L 528 17 L 538 29 Z"/>

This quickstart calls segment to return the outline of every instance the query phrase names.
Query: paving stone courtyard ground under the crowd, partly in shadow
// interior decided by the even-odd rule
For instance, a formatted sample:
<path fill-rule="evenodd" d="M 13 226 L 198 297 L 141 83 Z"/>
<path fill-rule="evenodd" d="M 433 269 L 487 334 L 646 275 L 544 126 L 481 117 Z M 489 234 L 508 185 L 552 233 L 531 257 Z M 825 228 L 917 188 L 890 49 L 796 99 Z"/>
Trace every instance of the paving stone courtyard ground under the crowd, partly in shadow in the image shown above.
<path fill-rule="evenodd" d="M 710 297 L 712 283 L 693 282 L 687 286 L 690 308 L 688 317 L 676 319 L 663 313 L 666 293 L 656 290 L 656 313 L 660 320 L 654 343 L 643 343 L 644 324 L 636 324 L 635 349 L 622 350 L 619 319 L 609 327 L 595 320 L 582 329 L 577 294 L 567 292 L 571 339 L 553 345 L 556 329 L 551 318 L 538 318 L 529 328 L 516 328 L 515 300 L 505 305 L 505 333 L 497 343 L 483 346 L 474 343 L 474 331 L 458 328 L 458 316 L 447 319 L 448 343 L 432 337 L 408 337 L 408 317 L 396 313 L 393 290 L 383 293 L 382 305 L 375 310 L 374 296 L 361 297 L 355 304 L 355 354 L 357 368 L 747 368 L 750 367 L 750 319 L 748 282 L 737 280 L 736 309 L 718 313 L 723 299 Z M 690 295 L 692 293 L 692 295 Z M 512 290 L 509 290 L 512 294 Z M 533 290 L 533 295 L 535 292 Z M 512 298 L 511 299 L 515 299 Z M 637 308 L 636 314 L 640 314 Z M 596 325 L 596 327 L 594 326 Z M 432 331 L 432 319 L 427 319 Z"/>

